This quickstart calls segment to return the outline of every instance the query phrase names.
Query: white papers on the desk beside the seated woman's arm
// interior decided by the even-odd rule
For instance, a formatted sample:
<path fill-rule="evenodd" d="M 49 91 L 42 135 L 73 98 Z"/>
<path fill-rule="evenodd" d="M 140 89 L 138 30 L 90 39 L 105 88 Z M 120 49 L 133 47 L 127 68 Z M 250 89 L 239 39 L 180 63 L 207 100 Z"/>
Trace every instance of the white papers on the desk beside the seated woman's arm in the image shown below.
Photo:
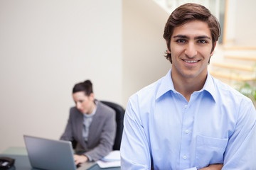
<path fill-rule="evenodd" d="M 103 157 L 97 164 L 100 168 L 110 168 L 110 167 L 118 167 L 121 166 L 121 159 L 120 159 L 120 151 L 112 151 L 110 154 L 107 154 L 106 157 Z"/>

